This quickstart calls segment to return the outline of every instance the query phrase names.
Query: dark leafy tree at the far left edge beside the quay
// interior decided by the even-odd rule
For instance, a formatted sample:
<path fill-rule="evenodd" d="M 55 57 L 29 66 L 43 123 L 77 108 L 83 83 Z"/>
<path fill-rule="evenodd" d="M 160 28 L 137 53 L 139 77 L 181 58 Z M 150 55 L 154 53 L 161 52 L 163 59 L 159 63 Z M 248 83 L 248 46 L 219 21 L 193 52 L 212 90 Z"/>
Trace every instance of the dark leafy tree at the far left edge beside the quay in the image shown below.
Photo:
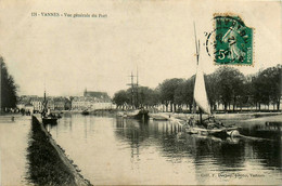
<path fill-rule="evenodd" d="M 14 82 L 14 78 L 9 75 L 7 65 L 4 63 L 3 57 L 0 56 L 0 108 L 4 110 L 4 108 L 14 108 L 16 105 L 16 92 L 17 85 Z"/>

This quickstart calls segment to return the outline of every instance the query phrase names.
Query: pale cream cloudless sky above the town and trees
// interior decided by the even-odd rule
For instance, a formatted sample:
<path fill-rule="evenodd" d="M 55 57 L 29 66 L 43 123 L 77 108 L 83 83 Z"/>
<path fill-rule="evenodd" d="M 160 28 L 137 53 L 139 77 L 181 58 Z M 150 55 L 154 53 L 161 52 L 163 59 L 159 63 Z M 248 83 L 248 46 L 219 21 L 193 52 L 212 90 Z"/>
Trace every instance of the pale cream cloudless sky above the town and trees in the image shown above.
<path fill-rule="evenodd" d="M 0 55 L 20 85 L 20 95 L 43 95 L 44 88 L 49 95 L 82 95 L 87 88 L 112 96 L 128 88 L 137 68 L 139 83 L 150 88 L 194 75 L 193 23 L 204 72 L 217 69 L 203 46 L 204 32 L 213 30 L 214 13 L 239 15 L 255 29 L 254 65 L 235 66 L 243 74 L 281 64 L 279 1 L 1 0 Z"/>

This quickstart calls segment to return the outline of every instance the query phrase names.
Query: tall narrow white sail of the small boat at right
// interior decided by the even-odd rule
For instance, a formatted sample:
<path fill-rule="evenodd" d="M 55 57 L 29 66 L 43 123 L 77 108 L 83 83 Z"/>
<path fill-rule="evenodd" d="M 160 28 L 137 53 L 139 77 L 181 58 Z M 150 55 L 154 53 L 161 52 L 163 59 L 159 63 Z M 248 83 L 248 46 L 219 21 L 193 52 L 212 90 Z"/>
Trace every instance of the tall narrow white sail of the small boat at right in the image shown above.
<path fill-rule="evenodd" d="M 207 99 L 204 71 L 202 69 L 201 63 L 197 65 L 196 69 L 196 80 L 194 87 L 194 101 L 196 105 L 205 112 L 210 115 L 210 107 Z"/>

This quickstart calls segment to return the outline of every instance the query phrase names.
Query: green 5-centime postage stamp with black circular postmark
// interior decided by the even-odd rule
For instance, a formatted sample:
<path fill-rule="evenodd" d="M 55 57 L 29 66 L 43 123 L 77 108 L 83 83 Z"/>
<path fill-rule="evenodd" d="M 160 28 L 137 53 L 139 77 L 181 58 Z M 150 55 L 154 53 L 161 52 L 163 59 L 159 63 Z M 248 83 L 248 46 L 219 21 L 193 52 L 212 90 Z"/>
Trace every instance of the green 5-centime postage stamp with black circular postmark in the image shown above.
<path fill-rule="evenodd" d="M 215 15 L 214 30 L 205 32 L 206 52 L 216 65 L 253 65 L 253 32 L 240 16 Z"/>

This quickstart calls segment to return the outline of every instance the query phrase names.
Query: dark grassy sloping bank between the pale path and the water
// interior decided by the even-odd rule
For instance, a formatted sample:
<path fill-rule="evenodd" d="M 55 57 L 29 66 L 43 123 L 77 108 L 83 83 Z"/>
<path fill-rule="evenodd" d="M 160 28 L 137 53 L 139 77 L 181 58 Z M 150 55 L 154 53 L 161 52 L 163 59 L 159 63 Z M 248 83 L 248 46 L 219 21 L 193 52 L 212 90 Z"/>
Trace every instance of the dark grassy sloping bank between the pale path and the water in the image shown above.
<path fill-rule="evenodd" d="M 39 121 L 33 119 L 31 124 L 27 148 L 29 182 L 36 185 L 79 185 L 72 169 L 62 161 L 62 155 L 50 143 L 50 136 L 42 131 Z"/>

